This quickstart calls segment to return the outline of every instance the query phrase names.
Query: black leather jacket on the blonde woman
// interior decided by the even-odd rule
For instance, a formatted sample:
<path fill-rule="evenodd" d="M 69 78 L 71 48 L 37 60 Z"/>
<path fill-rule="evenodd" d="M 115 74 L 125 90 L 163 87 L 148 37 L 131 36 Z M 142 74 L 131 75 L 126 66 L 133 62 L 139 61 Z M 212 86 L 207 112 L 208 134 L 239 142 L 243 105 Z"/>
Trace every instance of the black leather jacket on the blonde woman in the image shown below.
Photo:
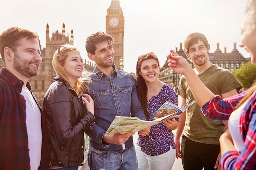
<path fill-rule="evenodd" d="M 92 113 L 84 113 L 83 107 L 70 85 L 56 76 L 43 101 L 49 167 L 83 165 L 84 132 L 95 120 Z"/>

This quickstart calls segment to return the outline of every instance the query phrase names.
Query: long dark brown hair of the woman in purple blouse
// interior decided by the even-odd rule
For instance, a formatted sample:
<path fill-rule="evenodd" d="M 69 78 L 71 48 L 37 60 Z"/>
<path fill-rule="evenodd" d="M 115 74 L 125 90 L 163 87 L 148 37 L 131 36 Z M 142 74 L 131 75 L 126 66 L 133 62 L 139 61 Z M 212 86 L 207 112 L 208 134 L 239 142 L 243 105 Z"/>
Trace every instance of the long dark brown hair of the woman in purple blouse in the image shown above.
<path fill-rule="evenodd" d="M 159 60 L 157 56 L 154 54 L 147 54 L 146 57 L 143 59 L 138 59 L 137 64 L 136 64 L 136 81 L 137 81 L 137 94 L 139 97 L 139 100 L 141 102 L 141 106 L 144 110 L 144 114 L 146 118 L 150 118 L 148 112 L 147 112 L 147 91 L 148 87 L 146 85 L 146 82 L 144 78 L 139 74 L 139 71 L 141 69 L 141 62 L 146 60 L 146 59 L 155 59 L 157 61 L 158 67 L 160 66 Z"/>

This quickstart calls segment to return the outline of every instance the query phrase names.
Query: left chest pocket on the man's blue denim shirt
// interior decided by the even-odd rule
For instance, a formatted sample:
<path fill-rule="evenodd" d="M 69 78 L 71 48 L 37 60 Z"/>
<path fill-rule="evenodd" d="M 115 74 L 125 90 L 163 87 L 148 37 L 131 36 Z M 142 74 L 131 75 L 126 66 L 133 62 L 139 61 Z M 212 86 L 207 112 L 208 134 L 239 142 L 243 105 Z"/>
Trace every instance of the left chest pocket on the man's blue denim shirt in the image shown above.
<path fill-rule="evenodd" d="M 109 89 L 93 90 L 92 93 L 97 107 L 110 107 L 112 105 Z"/>

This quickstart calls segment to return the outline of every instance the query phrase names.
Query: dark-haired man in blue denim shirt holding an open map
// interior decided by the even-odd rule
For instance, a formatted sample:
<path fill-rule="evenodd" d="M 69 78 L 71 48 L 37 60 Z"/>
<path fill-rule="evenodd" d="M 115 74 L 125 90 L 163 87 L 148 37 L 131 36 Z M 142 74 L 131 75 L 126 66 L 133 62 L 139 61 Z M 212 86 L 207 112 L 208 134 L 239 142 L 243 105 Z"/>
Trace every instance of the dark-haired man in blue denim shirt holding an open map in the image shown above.
<path fill-rule="evenodd" d="M 113 58 L 113 38 L 97 32 L 86 39 L 88 57 L 96 63 L 89 85 L 94 100 L 95 124 L 87 131 L 89 139 L 88 165 L 91 169 L 137 170 L 137 158 L 132 135 L 135 133 L 105 136 L 115 116 L 134 116 L 146 120 L 136 92 L 132 74 L 117 70 Z M 147 135 L 150 127 L 139 131 Z"/>

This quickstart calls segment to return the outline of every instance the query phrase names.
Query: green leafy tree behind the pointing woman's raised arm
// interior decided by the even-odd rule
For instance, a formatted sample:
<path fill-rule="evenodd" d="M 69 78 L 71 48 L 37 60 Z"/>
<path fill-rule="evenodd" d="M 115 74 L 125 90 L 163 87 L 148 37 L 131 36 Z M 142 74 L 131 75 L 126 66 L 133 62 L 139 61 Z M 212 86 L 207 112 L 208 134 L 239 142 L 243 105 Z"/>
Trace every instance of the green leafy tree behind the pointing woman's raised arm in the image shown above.
<path fill-rule="evenodd" d="M 238 70 L 235 70 L 233 74 L 246 89 L 250 87 L 256 79 L 256 65 L 253 65 L 251 62 L 247 62 Z"/>

